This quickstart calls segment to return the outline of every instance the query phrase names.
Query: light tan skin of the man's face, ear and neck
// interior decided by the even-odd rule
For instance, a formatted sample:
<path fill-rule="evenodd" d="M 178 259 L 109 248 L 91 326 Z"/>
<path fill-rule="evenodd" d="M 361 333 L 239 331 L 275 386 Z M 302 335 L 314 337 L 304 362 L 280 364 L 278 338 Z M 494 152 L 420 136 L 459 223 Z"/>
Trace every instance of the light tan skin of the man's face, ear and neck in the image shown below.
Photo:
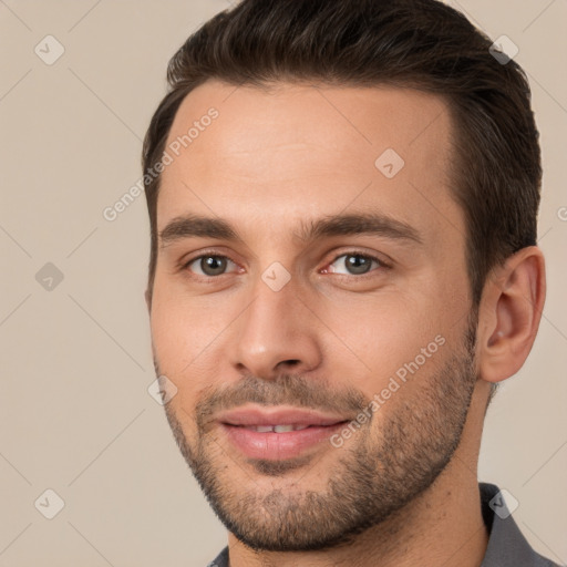
<path fill-rule="evenodd" d="M 230 565 L 480 566 L 486 402 L 491 383 L 517 372 L 535 340 L 540 250 L 524 248 L 495 269 L 472 317 L 465 220 L 449 190 L 453 125 L 436 95 L 207 81 L 183 102 L 168 143 L 210 106 L 218 118 L 163 173 L 157 230 L 198 214 L 230 223 L 243 243 L 164 243 L 146 301 L 156 372 L 177 388 L 165 406 L 175 439 L 239 536 L 228 534 Z M 391 179 L 374 166 L 385 148 L 405 161 Z M 308 218 L 369 210 L 411 225 L 422 243 L 297 236 Z M 343 255 L 353 250 L 390 267 L 349 272 Z M 205 275 L 198 260 L 179 267 L 205 252 L 231 260 L 223 275 Z M 261 278 L 275 261 L 290 276 L 279 291 Z M 312 400 L 313 409 L 346 411 L 380 393 L 437 336 L 444 344 L 340 449 L 321 444 L 278 470 L 247 460 L 212 419 L 215 400 Z M 362 491 L 357 478 L 371 486 Z M 378 523 L 340 539 L 352 525 L 339 518 L 354 523 L 361 503 Z"/>

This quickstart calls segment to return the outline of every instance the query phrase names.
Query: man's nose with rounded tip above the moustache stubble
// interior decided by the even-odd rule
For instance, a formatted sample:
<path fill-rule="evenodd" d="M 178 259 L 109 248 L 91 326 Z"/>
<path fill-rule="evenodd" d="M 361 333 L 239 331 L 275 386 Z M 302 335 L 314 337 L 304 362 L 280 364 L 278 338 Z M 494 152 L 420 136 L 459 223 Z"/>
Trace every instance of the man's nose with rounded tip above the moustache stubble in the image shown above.
<path fill-rule="evenodd" d="M 321 363 L 319 326 L 291 279 L 278 291 L 259 279 L 235 327 L 234 364 L 266 380 L 305 373 Z"/>

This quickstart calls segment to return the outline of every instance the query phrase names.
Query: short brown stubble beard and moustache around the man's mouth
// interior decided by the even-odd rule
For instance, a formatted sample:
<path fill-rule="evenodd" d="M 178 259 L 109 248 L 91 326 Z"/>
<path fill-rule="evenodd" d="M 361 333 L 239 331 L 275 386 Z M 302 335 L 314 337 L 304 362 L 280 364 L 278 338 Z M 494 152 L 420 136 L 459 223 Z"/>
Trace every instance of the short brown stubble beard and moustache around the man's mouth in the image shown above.
<path fill-rule="evenodd" d="M 329 444 L 324 455 L 336 451 L 336 464 L 320 471 L 318 455 L 237 463 L 221 446 L 218 431 L 207 426 L 206 417 L 214 405 L 210 400 L 202 400 L 196 406 L 197 435 L 192 442 L 171 404 L 165 405 L 166 415 L 179 451 L 212 508 L 248 547 L 306 551 L 349 545 L 357 535 L 384 523 L 423 494 L 450 463 L 461 441 L 477 379 L 474 344 L 474 328 L 470 326 L 458 353 L 454 352 L 432 375 L 425 377 L 426 370 L 420 369 L 411 378 L 424 381 L 424 386 L 413 389 L 412 396 L 404 399 L 404 388 L 409 386 L 402 385 L 400 393 L 377 411 L 381 421 L 375 431 L 374 414 L 344 447 Z M 275 381 L 247 377 L 240 385 L 236 395 L 240 395 L 241 403 L 246 399 L 309 406 L 320 395 L 311 382 L 290 374 Z M 332 392 L 321 395 L 330 402 Z M 228 396 L 216 398 L 219 399 L 226 401 Z M 350 406 L 360 405 L 362 399 L 353 394 Z M 346 403 L 336 401 L 338 408 Z M 311 406 L 320 408 L 316 403 Z M 288 482 L 289 474 L 298 471 L 306 485 L 297 478 L 293 484 Z M 316 492 L 307 485 L 313 472 L 319 477 L 328 476 L 324 489 Z M 261 492 L 250 480 L 255 475 L 271 476 L 276 484 L 281 480 L 281 487 Z"/>

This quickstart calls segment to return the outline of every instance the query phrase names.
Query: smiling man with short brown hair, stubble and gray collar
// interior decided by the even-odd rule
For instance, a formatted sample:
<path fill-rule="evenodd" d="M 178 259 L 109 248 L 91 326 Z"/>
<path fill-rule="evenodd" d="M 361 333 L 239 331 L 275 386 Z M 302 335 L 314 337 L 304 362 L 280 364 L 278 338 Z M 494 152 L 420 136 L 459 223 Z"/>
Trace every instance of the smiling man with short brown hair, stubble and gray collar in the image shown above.
<path fill-rule="evenodd" d="M 172 59 L 146 300 L 212 566 L 556 565 L 476 473 L 545 300 L 529 89 L 491 45 L 434 0 L 244 0 Z"/>

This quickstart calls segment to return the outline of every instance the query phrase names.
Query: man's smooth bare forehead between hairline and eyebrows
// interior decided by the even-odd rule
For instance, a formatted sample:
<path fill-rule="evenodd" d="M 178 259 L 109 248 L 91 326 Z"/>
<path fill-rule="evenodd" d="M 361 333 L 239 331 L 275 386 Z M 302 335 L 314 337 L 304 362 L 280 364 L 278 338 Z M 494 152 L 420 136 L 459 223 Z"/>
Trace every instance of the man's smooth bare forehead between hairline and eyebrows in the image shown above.
<path fill-rule="evenodd" d="M 185 97 L 166 142 L 158 230 L 196 213 L 276 236 L 351 208 L 463 233 L 449 190 L 451 133 L 445 101 L 415 90 L 207 81 Z"/>

